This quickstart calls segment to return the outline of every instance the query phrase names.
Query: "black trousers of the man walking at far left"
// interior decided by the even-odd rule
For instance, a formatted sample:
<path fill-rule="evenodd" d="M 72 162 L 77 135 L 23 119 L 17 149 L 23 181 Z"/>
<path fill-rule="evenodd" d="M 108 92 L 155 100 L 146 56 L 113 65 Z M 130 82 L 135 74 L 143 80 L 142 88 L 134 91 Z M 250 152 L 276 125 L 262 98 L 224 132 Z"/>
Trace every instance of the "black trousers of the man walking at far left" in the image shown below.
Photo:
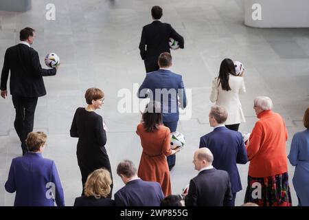
<path fill-rule="evenodd" d="M 19 140 L 21 140 L 21 148 L 24 155 L 25 152 L 27 152 L 25 140 L 28 133 L 33 131 L 34 111 L 36 111 L 38 97 L 28 98 L 21 96 L 12 96 L 12 101 L 16 111 L 14 128 L 17 135 L 19 135 Z"/>

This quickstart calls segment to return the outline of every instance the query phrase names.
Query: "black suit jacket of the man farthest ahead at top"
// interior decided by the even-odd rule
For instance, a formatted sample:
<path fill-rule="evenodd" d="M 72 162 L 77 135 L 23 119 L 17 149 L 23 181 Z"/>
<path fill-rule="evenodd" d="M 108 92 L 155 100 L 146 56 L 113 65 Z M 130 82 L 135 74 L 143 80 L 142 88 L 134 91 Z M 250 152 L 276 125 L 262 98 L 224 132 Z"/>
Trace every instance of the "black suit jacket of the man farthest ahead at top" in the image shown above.
<path fill-rule="evenodd" d="M 183 37 L 169 23 L 153 21 L 144 26 L 139 43 L 141 58 L 145 61 L 157 61 L 161 53 L 170 53 L 170 45 L 168 44 L 170 37 L 178 41 L 181 48 L 184 47 Z M 147 50 L 145 45 L 147 45 Z"/>

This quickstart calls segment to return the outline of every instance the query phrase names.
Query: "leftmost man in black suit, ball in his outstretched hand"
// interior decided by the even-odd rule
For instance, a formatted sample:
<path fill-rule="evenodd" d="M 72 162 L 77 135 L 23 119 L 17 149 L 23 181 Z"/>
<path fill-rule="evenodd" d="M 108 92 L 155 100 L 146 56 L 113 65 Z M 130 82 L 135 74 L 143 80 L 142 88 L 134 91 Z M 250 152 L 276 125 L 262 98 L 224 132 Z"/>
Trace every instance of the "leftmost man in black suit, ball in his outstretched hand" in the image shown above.
<path fill-rule="evenodd" d="M 21 42 L 9 47 L 4 56 L 1 73 L 1 96 L 8 95 L 7 83 L 10 75 L 10 94 L 16 111 L 14 128 L 19 140 L 23 155 L 27 151 L 25 139 L 33 131 L 34 111 L 38 97 L 45 96 L 45 85 L 42 76 L 54 76 L 57 69 L 43 69 L 40 64 L 38 52 L 30 45 L 35 39 L 35 30 L 24 28 L 19 34 Z"/>

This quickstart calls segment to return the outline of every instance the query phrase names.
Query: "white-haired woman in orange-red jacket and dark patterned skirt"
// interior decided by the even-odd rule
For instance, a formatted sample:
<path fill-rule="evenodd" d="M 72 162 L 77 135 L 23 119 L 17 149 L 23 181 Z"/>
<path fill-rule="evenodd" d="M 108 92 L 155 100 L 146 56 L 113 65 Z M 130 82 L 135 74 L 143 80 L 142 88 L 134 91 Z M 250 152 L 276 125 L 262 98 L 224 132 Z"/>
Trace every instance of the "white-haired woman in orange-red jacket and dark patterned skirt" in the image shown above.
<path fill-rule="evenodd" d="M 266 96 L 255 98 L 253 108 L 259 120 L 246 143 L 250 165 L 244 202 L 259 206 L 292 206 L 286 124 L 278 113 L 271 111 L 273 102 Z"/>

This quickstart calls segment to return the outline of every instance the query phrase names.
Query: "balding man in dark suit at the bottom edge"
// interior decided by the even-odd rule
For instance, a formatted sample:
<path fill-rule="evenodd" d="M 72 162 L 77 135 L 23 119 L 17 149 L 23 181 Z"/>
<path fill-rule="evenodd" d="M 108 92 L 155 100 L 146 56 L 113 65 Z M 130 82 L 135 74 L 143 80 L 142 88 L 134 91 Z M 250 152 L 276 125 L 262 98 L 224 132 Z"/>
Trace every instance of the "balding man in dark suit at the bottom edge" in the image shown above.
<path fill-rule="evenodd" d="M 191 179 L 185 196 L 185 206 L 223 206 L 232 199 L 229 173 L 217 170 L 211 164 L 214 156 L 208 148 L 194 152 L 194 168 L 198 175 Z"/>

